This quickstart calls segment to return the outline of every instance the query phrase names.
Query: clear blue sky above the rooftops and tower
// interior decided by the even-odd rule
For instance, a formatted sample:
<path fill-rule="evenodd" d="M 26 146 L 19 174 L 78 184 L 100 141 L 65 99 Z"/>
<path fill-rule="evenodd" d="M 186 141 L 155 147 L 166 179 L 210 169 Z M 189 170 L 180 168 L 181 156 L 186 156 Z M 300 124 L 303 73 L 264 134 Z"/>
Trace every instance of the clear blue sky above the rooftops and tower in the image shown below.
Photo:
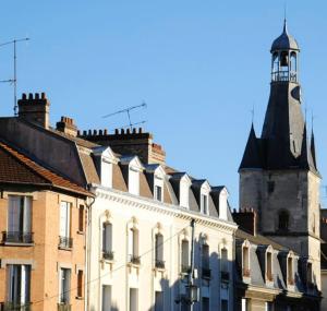
<path fill-rule="evenodd" d="M 261 133 L 269 95 L 272 40 L 284 0 L 1 1 L 0 43 L 19 46 L 19 94 L 46 92 L 51 123 L 114 129 L 142 104 L 134 122 L 164 145 L 168 164 L 213 186 L 226 184 L 238 206 L 238 167 L 251 109 Z M 289 29 L 302 49 L 303 106 L 315 116 L 318 163 L 327 176 L 327 3 L 288 1 Z M 0 80 L 12 77 L 12 49 L 0 48 Z M 11 116 L 12 87 L 0 84 L 0 115 Z M 323 184 L 325 182 L 323 181 Z M 327 184 L 327 183 L 326 183 Z"/>

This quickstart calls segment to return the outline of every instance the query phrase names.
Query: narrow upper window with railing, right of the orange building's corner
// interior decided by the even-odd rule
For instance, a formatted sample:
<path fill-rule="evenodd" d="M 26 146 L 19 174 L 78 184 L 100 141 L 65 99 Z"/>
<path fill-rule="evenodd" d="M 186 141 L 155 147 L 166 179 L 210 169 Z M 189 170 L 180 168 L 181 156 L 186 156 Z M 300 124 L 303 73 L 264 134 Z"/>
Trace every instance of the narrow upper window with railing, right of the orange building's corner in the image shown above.
<path fill-rule="evenodd" d="M 62 201 L 60 204 L 60 248 L 71 248 L 71 203 Z"/>

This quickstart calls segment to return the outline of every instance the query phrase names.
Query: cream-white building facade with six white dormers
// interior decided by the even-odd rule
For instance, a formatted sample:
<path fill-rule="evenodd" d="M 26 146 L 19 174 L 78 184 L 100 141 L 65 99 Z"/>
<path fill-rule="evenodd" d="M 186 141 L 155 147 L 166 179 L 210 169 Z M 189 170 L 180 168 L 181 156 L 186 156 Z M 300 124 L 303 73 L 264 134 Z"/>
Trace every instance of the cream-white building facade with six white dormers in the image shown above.
<path fill-rule="evenodd" d="M 101 184 L 89 208 L 87 310 L 189 310 L 194 230 L 193 310 L 233 310 L 234 232 L 226 188 L 211 188 L 137 156 L 94 151 Z"/>

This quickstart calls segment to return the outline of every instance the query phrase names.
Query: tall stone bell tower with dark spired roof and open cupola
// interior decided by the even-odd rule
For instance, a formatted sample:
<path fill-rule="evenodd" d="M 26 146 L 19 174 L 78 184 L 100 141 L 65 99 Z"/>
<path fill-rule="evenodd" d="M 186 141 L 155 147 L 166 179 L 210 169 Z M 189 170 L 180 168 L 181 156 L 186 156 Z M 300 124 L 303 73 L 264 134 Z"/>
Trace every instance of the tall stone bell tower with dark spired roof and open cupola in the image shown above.
<path fill-rule="evenodd" d="M 261 136 L 254 127 L 239 168 L 240 208 L 257 212 L 257 230 L 314 266 L 320 284 L 319 182 L 301 107 L 300 48 L 284 21 L 272 43 L 270 95 Z"/>

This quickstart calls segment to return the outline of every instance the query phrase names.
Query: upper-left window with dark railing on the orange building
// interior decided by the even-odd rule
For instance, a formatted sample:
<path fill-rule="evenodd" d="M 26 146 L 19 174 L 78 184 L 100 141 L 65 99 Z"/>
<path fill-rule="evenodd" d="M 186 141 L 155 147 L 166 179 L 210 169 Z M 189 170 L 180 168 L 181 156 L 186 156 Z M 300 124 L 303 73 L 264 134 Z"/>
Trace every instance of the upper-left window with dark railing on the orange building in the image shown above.
<path fill-rule="evenodd" d="M 10 195 L 8 206 L 7 242 L 32 243 L 32 198 Z"/>

